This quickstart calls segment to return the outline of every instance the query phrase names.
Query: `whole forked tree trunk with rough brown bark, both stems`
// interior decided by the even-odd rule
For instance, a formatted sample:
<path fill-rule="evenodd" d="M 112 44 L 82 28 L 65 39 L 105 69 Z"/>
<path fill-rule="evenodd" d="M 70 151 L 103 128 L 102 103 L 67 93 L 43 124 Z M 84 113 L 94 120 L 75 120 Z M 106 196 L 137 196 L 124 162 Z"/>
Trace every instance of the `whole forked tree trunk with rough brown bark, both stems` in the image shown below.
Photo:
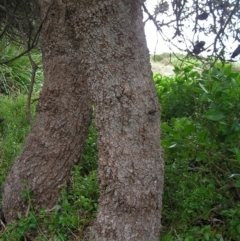
<path fill-rule="evenodd" d="M 44 16 L 48 1 L 38 2 Z M 37 120 L 4 187 L 7 220 L 25 210 L 19 201 L 22 179 L 33 190 L 35 205 L 54 204 L 82 147 L 90 119 L 89 90 L 99 136 L 101 196 L 86 240 L 158 240 L 163 189 L 160 109 L 142 0 L 55 3 L 42 33 L 46 83 Z"/>

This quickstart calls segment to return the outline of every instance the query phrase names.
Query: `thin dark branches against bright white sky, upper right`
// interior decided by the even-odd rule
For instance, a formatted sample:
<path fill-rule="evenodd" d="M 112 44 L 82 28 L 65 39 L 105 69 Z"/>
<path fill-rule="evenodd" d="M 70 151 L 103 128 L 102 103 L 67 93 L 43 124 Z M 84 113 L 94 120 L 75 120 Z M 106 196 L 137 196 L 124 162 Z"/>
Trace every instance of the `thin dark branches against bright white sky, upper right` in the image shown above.
<path fill-rule="evenodd" d="M 229 48 L 240 41 L 239 0 L 161 0 L 152 12 L 143 8 L 147 20 L 154 22 L 170 48 L 220 60 L 235 58 L 240 53 L 239 48 Z M 172 36 L 165 34 L 167 29 Z"/>

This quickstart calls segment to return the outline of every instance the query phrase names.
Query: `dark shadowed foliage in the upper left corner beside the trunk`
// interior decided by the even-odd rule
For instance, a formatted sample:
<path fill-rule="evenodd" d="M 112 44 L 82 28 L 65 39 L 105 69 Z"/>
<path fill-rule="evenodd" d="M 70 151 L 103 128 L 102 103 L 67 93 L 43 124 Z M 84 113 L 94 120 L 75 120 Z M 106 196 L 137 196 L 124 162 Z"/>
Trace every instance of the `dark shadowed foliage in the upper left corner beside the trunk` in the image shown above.
<path fill-rule="evenodd" d="M 9 42 L 24 46 L 21 54 L 13 59 L 2 60 L 0 64 L 8 63 L 34 48 L 38 43 L 40 28 L 39 9 L 35 1 L 0 0 L 0 39 L 5 37 Z"/>

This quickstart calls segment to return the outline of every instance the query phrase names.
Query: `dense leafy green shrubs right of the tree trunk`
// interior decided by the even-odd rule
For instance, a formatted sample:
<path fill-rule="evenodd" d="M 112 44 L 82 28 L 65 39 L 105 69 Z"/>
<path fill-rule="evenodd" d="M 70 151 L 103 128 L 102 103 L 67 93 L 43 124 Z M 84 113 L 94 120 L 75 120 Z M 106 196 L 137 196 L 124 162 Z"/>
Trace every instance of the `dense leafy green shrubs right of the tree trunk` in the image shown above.
<path fill-rule="evenodd" d="M 161 240 L 238 240 L 240 75 L 230 65 L 187 66 L 155 85 L 166 163 Z"/>

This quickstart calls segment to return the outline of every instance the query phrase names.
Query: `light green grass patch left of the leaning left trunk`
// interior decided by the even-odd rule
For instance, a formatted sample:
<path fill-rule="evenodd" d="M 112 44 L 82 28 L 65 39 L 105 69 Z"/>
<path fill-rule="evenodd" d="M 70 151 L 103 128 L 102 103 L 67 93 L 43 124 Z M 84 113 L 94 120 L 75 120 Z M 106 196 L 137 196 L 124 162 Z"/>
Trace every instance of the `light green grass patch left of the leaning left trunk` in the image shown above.
<path fill-rule="evenodd" d="M 30 126 L 26 116 L 26 95 L 0 97 L 0 184 L 22 149 Z M 35 106 L 32 106 L 32 114 Z"/>

